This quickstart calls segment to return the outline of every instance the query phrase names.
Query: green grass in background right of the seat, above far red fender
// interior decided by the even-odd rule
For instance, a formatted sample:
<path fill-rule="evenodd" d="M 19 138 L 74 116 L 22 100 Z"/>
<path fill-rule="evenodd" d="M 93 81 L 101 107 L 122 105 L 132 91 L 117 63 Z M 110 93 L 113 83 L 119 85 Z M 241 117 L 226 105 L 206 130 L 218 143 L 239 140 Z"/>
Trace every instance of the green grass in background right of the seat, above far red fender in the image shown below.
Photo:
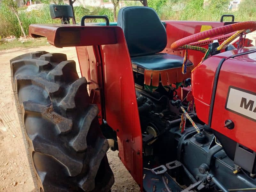
<path fill-rule="evenodd" d="M 256 18 L 256 0 L 243 0 L 236 11 L 228 8 L 228 0 L 168 0 L 157 12 L 162 20 L 220 21 L 221 15 L 233 14 L 235 21 L 249 21 Z M 231 21 L 225 18 L 224 21 Z"/>

